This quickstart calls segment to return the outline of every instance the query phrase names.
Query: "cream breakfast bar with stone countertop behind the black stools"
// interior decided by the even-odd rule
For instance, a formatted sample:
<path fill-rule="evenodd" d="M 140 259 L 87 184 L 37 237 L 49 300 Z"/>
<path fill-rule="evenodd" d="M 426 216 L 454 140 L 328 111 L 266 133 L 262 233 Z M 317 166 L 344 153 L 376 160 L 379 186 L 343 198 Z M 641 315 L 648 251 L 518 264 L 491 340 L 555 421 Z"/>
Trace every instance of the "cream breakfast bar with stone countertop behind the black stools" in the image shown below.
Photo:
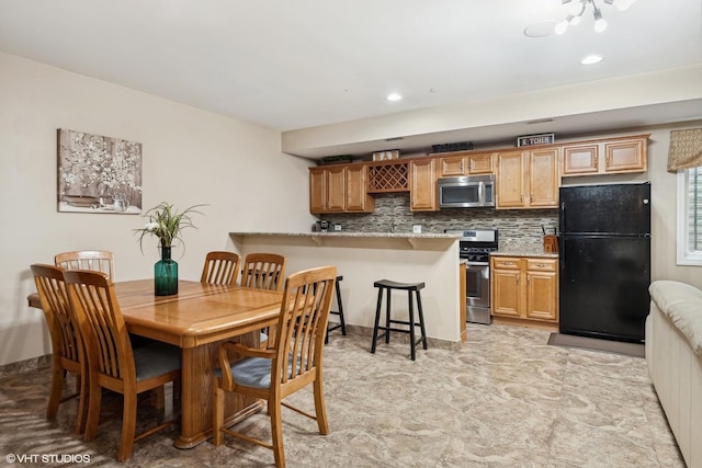
<path fill-rule="evenodd" d="M 412 232 L 230 232 L 242 256 L 272 252 L 286 259 L 286 275 L 335 265 L 347 324 L 373 329 L 378 279 L 423 282 L 421 298 L 430 346 L 461 343 L 458 238 L 450 233 Z M 397 294 L 397 293 L 396 293 Z M 393 315 L 407 317 L 406 296 L 393 300 Z M 369 349 L 370 349 L 369 340 Z"/>

